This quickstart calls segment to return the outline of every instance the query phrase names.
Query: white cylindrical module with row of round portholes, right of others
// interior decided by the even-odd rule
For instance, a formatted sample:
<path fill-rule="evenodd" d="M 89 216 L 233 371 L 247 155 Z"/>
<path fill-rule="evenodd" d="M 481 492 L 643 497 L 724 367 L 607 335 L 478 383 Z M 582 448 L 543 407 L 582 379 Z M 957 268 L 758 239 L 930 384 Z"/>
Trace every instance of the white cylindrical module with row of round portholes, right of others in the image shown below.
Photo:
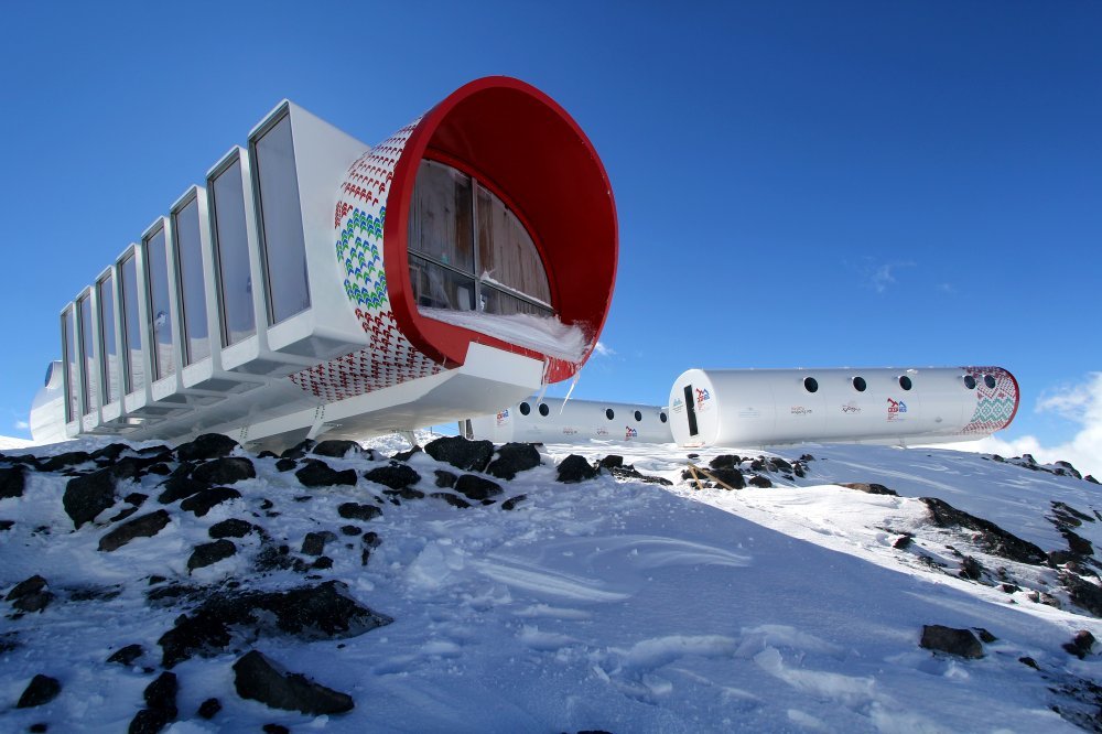
<path fill-rule="evenodd" d="M 670 425 L 682 446 L 943 443 L 1006 428 L 1019 400 L 1002 367 L 690 369 Z"/>

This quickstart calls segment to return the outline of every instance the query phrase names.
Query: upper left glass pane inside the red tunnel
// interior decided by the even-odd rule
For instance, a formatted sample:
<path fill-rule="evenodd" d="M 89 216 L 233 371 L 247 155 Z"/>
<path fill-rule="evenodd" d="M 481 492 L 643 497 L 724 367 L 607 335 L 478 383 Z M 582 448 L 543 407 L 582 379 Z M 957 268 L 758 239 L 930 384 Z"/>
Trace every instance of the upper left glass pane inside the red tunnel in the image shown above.
<path fill-rule="evenodd" d="M 409 250 L 474 273 L 471 224 L 469 176 L 421 161 L 410 205 Z"/>

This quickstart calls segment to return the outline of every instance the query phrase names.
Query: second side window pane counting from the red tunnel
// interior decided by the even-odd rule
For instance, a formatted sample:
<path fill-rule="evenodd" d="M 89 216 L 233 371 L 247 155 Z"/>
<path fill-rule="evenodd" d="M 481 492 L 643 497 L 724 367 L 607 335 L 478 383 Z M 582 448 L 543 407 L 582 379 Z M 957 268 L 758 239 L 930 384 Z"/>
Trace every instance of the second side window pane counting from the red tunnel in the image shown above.
<path fill-rule="evenodd" d="M 210 187 L 214 192 L 210 206 L 214 212 L 214 249 L 218 259 L 222 343 L 229 346 L 257 333 L 241 162 L 234 161 L 210 182 Z"/>

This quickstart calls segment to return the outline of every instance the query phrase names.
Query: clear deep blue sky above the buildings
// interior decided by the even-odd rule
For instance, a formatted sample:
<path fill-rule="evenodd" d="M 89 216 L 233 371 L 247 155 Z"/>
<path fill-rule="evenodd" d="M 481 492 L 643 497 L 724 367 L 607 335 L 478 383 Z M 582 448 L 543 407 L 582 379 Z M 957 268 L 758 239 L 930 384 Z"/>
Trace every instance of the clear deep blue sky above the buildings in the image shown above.
<path fill-rule="evenodd" d="M 375 143 L 488 74 L 557 99 L 613 183 L 609 354 L 575 396 L 988 363 L 1023 387 L 1008 439 L 1102 406 L 1102 6 L 408 4 L 6 8 L 0 433 L 62 305 L 281 98 Z"/>

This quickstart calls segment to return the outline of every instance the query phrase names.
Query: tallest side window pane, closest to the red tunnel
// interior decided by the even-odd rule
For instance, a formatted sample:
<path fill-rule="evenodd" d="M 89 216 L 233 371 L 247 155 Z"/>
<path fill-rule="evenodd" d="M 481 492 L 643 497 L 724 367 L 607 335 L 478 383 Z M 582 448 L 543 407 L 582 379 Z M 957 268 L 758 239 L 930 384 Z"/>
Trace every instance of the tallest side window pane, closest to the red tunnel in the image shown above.
<path fill-rule="evenodd" d="M 256 151 L 268 316 L 278 324 L 310 307 L 306 244 L 302 235 L 290 116 L 284 116 L 257 141 Z"/>

